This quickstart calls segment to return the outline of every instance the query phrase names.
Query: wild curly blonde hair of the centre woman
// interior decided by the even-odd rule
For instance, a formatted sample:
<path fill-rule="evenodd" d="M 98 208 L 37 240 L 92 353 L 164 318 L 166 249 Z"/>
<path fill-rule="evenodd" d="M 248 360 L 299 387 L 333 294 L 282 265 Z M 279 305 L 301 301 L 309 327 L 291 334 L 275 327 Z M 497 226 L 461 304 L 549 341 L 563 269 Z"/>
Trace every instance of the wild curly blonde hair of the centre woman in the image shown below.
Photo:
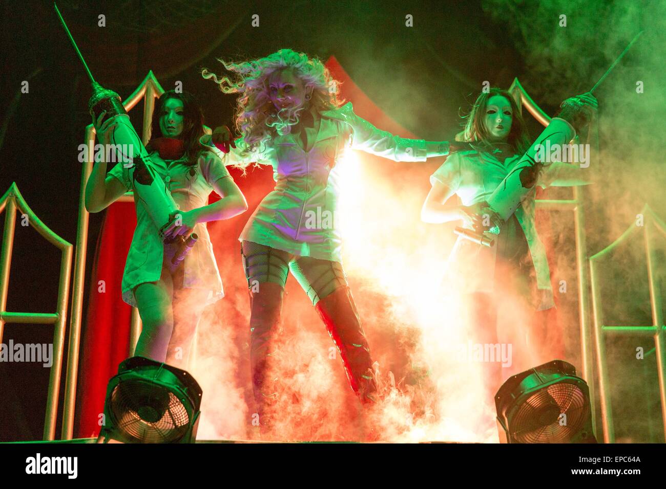
<path fill-rule="evenodd" d="M 333 79 L 328 69 L 318 58 L 308 57 L 305 53 L 296 53 L 292 49 L 280 49 L 265 58 L 250 61 L 218 61 L 224 68 L 236 76 L 218 78 L 208 69 L 202 69 L 204 79 L 213 79 L 224 93 L 238 93 L 235 125 L 240 131 L 247 147 L 245 152 L 252 152 L 266 144 L 276 134 L 288 134 L 292 126 L 298 124 L 300 108 L 276 110 L 270 100 L 268 79 L 276 71 L 291 69 L 294 76 L 311 85 L 312 98 L 316 110 L 330 110 L 342 105 L 338 98 L 340 82 Z"/>

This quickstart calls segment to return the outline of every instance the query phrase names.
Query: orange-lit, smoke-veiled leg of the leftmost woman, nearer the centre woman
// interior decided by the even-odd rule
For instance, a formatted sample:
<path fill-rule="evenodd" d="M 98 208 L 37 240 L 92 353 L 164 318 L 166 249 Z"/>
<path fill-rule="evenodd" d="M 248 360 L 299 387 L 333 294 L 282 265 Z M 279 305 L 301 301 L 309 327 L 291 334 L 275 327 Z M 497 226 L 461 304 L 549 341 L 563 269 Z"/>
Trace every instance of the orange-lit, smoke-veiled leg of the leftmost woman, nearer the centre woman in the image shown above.
<path fill-rule="evenodd" d="M 168 343 L 166 363 L 187 370 L 190 363 L 194 333 L 206 307 L 207 289 L 175 289 L 173 293 L 173 331 Z"/>

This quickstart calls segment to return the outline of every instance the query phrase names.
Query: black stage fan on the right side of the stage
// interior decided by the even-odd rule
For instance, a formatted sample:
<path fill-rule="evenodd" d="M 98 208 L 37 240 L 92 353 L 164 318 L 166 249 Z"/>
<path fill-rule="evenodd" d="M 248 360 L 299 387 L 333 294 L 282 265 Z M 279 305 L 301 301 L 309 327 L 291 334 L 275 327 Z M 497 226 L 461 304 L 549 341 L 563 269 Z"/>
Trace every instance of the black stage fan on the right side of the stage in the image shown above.
<path fill-rule="evenodd" d="M 596 443 L 587 383 L 553 360 L 508 379 L 495 404 L 503 443 Z"/>

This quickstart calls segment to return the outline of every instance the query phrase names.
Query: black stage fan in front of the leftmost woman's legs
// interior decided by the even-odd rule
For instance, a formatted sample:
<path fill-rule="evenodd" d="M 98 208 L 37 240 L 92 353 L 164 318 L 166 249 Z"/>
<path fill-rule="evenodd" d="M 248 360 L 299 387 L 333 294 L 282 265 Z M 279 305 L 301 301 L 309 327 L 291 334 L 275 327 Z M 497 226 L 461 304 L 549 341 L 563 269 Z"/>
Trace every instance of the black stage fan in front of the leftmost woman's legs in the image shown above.
<path fill-rule="evenodd" d="M 109 381 L 98 442 L 193 443 L 202 391 L 186 371 L 144 357 Z"/>

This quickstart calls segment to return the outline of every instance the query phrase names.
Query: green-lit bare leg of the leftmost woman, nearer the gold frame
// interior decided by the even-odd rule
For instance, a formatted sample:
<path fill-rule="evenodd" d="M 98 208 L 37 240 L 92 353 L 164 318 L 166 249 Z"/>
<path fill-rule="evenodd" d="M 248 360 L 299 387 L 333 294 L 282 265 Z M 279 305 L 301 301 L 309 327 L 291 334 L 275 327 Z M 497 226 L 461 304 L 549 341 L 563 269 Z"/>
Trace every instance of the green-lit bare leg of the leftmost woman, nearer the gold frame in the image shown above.
<path fill-rule="evenodd" d="M 135 288 L 143 323 L 135 355 L 159 362 L 166 360 L 166 348 L 173 329 L 172 295 L 171 274 L 166 267 L 163 267 L 159 281 L 141 283 Z"/>

